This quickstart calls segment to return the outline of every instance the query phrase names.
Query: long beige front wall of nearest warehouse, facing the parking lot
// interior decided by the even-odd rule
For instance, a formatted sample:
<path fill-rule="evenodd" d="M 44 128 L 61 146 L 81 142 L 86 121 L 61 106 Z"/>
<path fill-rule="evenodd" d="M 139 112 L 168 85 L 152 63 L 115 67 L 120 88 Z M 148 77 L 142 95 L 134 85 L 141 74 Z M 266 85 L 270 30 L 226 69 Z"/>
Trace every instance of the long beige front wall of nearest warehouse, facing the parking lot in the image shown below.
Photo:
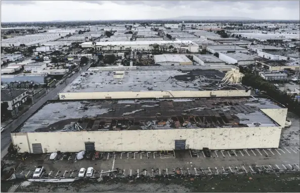
<path fill-rule="evenodd" d="M 84 142 L 95 142 L 100 151 L 158 151 L 173 150 L 175 140 L 185 139 L 192 149 L 277 148 L 280 127 L 203 128 L 135 131 L 81 131 L 12 133 L 14 144 L 21 152 L 31 151 L 32 143 L 41 143 L 47 152 L 77 152 Z M 266 137 L 268 136 L 268 137 Z M 30 149 L 26 138 L 30 143 Z"/>

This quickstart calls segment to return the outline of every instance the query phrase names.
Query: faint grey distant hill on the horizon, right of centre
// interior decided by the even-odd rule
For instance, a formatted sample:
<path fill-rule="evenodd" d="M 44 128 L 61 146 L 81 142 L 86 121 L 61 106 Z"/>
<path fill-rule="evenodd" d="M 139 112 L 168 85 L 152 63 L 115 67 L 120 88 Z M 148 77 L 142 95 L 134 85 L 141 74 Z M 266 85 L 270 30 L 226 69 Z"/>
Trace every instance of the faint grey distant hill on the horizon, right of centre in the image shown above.
<path fill-rule="evenodd" d="M 249 17 L 218 17 L 218 16 L 180 16 L 164 20 L 255 20 Z"/>

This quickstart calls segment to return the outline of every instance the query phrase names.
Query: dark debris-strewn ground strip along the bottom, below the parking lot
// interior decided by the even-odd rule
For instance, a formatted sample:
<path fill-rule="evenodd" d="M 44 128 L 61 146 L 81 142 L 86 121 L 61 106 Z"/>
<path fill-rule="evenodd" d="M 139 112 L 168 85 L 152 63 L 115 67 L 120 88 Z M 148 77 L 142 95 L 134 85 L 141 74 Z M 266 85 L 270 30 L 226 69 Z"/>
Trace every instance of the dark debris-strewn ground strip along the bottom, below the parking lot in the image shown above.
<path fill-rule="evenodd" d="M 96 180 L 59 184 L 32 182 L 26 186 L 20 185 L 16 192 L 297 192 L 299 179 L 298 173 L 169 179 L 164 177 L 150 179 L 141 176 L 138 179 L 104 178 L 102 182 Z"/>

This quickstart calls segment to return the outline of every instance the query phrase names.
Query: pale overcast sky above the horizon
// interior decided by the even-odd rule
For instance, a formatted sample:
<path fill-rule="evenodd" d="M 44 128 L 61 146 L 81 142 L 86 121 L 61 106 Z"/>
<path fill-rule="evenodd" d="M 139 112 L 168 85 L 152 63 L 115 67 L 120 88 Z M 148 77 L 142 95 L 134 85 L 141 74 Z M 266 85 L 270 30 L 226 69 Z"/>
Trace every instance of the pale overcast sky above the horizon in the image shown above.
<path fill-rule="evenodd" d="M 179 16 L 299 20 L 299 1 L 1 1 L 2 22 Z"/>

